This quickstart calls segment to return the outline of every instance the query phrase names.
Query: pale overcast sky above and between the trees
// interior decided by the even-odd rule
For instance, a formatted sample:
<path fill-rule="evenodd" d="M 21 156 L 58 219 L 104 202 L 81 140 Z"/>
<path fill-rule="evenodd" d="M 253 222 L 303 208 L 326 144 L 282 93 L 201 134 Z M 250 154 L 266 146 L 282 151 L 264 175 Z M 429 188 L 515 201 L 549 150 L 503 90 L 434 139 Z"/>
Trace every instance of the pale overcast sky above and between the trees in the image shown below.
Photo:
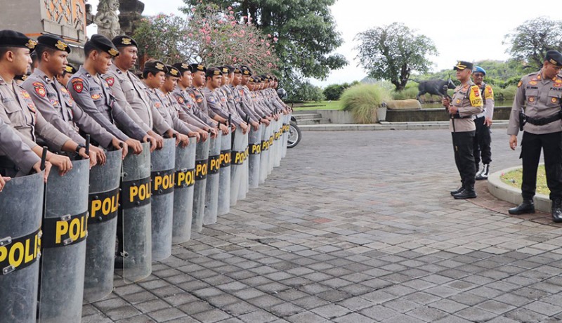
<path fill-rule="evenodd" d="M 143 0 L 143 15 L 178 13 L 183 6 L 181 0 Z M 89 0 L 96 12 L 98 0 Z M 367 75 L 355 60 L 357 51 L 353 41 L 358 32 L 372 27 L 403 22 L 407 27 L 424 34 L 436 44 L 439 55 L 432 57 L 433 71 L 455 65 L 457 60 L 507 60 L 507 46 L 502 44 L 504 35 L 513 32 L 525 20 L 540 16 L 533 6 L 522 6 L 509 1 L 488 0 L 476 3 L 446 0 L 337 0 L 332 6 L 336 30 L 341 33 L 344 44 L 336 49 L 344 55 L 349 65 L 332 71 L 325 81 L 314 80 L 318 86 L 360 80 Z M 544 12 L 549 12 L 544 11 Z M 552 17 L 549 17 L 552 18 Z M 556 19 L 556 17 L 554 17 Z M 89 27 L 89 34 L 96 27 Z"/>

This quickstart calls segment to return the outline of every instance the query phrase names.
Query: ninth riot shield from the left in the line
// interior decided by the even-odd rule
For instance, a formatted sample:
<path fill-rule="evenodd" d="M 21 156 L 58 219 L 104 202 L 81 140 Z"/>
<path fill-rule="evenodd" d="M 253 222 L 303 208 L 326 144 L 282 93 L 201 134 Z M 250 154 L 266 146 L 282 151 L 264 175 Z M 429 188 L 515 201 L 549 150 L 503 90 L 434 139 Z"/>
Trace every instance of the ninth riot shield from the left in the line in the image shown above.
<path fill-rule="evenodd" d="M 232 148 L 232 130 L 228 131 L 228 135 L 223 136 L 221 140 L 221 169 L 218 171 L 220 174 L 218 180 L 218 208 L 217 214 L 230 212 L 230 161 L 231 161 L 231 148 Z"/>

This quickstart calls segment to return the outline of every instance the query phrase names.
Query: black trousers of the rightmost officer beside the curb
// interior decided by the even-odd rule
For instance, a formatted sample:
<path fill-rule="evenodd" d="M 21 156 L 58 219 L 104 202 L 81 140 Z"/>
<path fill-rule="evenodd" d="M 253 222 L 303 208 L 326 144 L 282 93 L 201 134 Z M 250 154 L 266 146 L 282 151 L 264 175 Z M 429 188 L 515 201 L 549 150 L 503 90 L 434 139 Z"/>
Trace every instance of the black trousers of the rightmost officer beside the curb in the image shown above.
<path fill-rule="evenodd" d="M 560 199 L 562 198 L 562 132 L 542 135 L 523 133 L 523 140 L 521 140 L 521 159 L 523 159 L 521 195 L 523 199 L 532 199 L 535 196 L 541 149 L 544 155 L 544 170 L 547 173 L 550 199 Z"/>

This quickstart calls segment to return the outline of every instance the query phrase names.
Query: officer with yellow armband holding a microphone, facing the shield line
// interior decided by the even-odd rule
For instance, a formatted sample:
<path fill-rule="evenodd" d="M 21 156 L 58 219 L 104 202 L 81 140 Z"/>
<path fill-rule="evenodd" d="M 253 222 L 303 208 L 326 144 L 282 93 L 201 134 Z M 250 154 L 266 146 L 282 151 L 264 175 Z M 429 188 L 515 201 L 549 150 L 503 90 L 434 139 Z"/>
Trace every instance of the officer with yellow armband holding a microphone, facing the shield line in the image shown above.
<path fill-rule="evenodd" d="M 473 145 L 474 125 L 473 116 L 482 112 L 482 95 L 480 88 L 472 83 L 470 77 L 473 64 L 459 61 L 453 67 L 457 71 L 457 79 L 461 82 L 452 98 L 443 98 L 441 102 L 450 114 L 449 130 L 452 135 L 452 145 L 455 151 L 455 163 L 461 176 L 462 186 L 451 191 L 455 199 L 473 199 L 476 197 L 474 181 L 476 166 L 474 164 Z"/>

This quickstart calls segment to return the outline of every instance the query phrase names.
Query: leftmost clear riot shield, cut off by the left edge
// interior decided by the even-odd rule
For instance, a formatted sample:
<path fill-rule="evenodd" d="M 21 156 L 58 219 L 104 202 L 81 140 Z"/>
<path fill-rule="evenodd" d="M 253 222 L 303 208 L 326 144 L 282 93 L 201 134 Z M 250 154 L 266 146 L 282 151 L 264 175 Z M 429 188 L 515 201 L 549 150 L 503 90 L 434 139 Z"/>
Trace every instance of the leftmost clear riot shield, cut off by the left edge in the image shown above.
<path fill-rule="evenodd" d="M 0 320 L 35 322 L 44 173 L 12 178 L 0 192 Z"/>

